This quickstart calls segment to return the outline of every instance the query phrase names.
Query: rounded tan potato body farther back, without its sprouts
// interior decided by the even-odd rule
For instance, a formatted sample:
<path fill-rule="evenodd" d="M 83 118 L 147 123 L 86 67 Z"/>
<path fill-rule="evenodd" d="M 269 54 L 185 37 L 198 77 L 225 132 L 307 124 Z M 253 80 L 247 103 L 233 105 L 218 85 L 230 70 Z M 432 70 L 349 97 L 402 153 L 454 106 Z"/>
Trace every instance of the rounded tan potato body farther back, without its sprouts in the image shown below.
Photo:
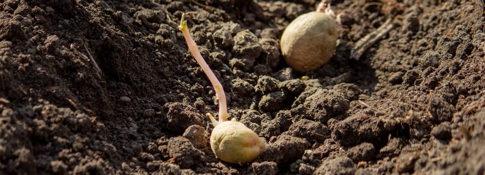
<path fill-rule="evenodd" d="M 307 72 L 326 64 L 337 42 L 335 19 L 324 12 L 298 16 L 281 35 L 281 52 L 294 70 Z"/>

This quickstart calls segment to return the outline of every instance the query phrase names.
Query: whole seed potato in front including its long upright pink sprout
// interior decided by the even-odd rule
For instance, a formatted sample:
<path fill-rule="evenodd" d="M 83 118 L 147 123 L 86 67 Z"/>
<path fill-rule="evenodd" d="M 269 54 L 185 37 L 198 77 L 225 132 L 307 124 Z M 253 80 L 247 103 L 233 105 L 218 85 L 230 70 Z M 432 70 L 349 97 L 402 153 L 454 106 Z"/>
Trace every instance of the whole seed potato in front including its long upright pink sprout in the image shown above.
<path fill-rule="evenodd" d="M 229 114 L 227 113 L 226 95 L 222 84 L 200 54 L 184 17 L 185 14 L 182 14 L 178 29 L 182 31 L 190 52 L 209 78 L 219 100 L 219 121 L 214 119 L 210 113 L 207 114 L 215 126 L 210 135 L 211 149 L 223 161 L 239 164 L 249 163 L 261 154 L 264 149 L 264 141 L 253 130 L 236 121 L 235 118 L 227 120 Z"/>

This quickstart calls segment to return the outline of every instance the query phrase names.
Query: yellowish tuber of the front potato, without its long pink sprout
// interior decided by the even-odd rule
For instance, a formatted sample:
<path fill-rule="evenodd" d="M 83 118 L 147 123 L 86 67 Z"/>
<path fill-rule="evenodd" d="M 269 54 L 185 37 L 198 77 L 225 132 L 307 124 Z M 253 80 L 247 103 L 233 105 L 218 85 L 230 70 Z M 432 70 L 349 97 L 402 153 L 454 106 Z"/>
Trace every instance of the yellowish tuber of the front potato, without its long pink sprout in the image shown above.
<path fill-rule="evenodd" d="M 219 159 L 242 164 L 261 154 L 264 141 L 241 122 L 223 121 L 212 129 L 210 147 Z"/>

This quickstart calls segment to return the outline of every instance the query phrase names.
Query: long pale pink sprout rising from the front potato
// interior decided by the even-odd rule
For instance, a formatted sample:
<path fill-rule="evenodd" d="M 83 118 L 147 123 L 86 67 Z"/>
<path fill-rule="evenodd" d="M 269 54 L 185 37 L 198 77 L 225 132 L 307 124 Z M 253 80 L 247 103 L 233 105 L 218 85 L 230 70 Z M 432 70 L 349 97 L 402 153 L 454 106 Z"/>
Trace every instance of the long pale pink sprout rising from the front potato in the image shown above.
<path fill-rule="evenodd" d="M 194 39 L 190 35 L 189 28 L 187 27 L 187 20 L 184 20 L 185 13 L 182 14 L 182 18 L 180 19 L 180 25 L 178 29 L 182 31 L 185 41 L 187 42 L 187 46 L 189 47 L 190 52 L 194 56 L 197 63 L 199 63 L 202 71 L 204 71 L 209 81 L 212 83 L 214 90 L 216 92 L 216 97 L 219 100 L 219 122 L 226 121 L 229 118 L 229 114 L 227 113 L 227 103 L 226 103 L 226 94 L 224 93 L 224 89 L 222 88 L 221 82 L 217 79 L 212 69 L 210 69 L 207 62 L 205 62 L 204 58 L 200 54 L 199 48 L 197 47 L 197 43 L 195 43 Z M 211 118 L 212 120 L 213 118 Z M 214 121 L 213 121 L 214 122 Z M 214 123 L 216 124 L 216 123 Z"/>

